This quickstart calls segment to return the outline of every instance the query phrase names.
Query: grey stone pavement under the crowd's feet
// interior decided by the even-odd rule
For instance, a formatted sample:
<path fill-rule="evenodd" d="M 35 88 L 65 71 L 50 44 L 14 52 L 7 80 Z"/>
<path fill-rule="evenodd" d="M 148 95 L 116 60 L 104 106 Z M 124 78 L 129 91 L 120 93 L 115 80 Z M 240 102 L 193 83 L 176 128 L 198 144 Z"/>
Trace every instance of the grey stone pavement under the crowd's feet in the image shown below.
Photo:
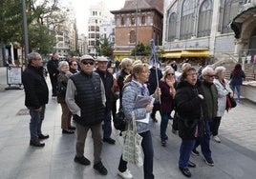
<path fill-rule="evenodd" d="M 48 79 L 48 84 L 49 79 Z M 51 88 L 51 85 L 49 86 Z M 122 138 L 113 129 L 115 146 L 104 143 L 102 162 L 107 176 L 99 175 L 93 165 L 84 167 L 74 162 L 75 134 L 65 135 L 60 129 L 60 105 L 50 99 L 47 105 L 43 131 L 50 134 L 46 146 L 37 149 L 29 146 L 30 116 L 24 106 L 23 90 L 0 91 L 0 178 L 1 179 L 116 179 L 117 165 L 122 148 Z M 208 167 L 202 156 L 191 156 L 197 168 L 191 169 L 192 178 L 252 179 L 256 175 L 256 105 L 244 100 L 242 105 L 224 114 L 220 128 L 221 144 L 212 142 L 214 167 Z M 185 178 L 178 169 L 181 139 L 168 128 L 167 147 L 160 146 L 159 122 L 153 126 L 155 149 L 154 174 L 156 179 Z M 170 124 L 172 122 L 170 121 Z M 200 149 L 199 149 L 200 150 Z M 85 156 L 92 162 L 91 133 L 86 141 Z M 143 178 L 142 168 L 129 164 L 135 179 Z"/>

